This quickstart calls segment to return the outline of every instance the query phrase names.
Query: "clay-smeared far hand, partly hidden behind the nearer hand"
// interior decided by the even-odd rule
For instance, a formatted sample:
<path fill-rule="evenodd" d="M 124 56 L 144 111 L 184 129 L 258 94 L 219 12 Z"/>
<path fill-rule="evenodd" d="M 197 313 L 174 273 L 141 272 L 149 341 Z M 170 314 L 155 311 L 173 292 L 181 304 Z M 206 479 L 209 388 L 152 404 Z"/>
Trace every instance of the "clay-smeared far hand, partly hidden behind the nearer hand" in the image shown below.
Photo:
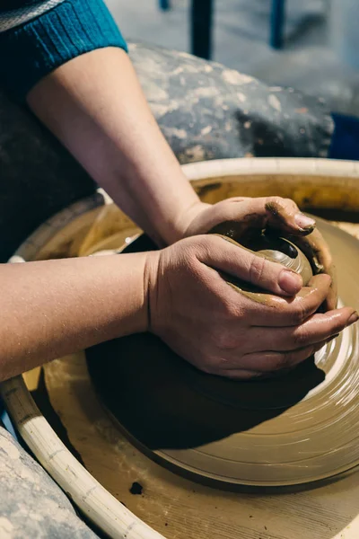
<path fill-rule="evenodd" d="M 328 310 L 337 306 L 337 278 L 328 244 L 315 228 L 315 221 L 303 215 L 293 200 L 243 197 L 225 199 L 214 205 L 201 202 L 191 208 L 184 221 L 189 224 L 184 227 L 183 237 L 210 231 L 221 234 L 230 228 L 231 237 L 238 243 L 248 238 L 253 230 L 275 229 L 302 249 L 316 273 L 330 276 L 325 303 Z M 262 287 L 265 286 L 262 284 Z"/>

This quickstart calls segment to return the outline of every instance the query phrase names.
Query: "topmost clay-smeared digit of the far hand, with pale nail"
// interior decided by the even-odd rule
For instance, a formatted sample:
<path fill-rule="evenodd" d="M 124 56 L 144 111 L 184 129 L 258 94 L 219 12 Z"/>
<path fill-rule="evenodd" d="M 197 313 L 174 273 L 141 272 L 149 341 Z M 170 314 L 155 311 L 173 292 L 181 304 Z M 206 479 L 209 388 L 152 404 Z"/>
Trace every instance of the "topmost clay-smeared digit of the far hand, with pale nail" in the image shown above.
<path fill-rule="evenodd" d="M 208 227 L 213 234 L 240 241 L 253 229 L 270 226 L 286 234 L 310 234 L 315 221 L 304 216 L 295 202 L 280 197 L 227 199 L 215 204 Z"/>

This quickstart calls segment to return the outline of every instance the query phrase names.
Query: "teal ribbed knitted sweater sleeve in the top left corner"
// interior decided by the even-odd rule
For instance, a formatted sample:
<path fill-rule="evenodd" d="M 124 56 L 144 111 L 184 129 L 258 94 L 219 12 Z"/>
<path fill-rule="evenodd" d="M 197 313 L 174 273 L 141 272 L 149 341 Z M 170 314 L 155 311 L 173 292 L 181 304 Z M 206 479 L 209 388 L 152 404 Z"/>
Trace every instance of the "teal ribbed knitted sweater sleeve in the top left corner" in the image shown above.
<path fill-rule="evenodd" d="M 127 51 L 102 0 L 0 2 L 0 84 L 19 101 L 58 66 L 103 47 Z"/>

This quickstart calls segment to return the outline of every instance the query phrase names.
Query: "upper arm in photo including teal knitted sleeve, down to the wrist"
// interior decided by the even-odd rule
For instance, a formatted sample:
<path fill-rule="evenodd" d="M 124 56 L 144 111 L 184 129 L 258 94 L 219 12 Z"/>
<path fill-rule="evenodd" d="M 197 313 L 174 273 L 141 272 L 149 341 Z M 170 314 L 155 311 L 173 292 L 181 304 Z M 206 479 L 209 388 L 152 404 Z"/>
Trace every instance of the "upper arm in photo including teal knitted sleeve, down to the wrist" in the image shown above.
<path fill-rule="evenodd" d="M 172 243 L 187 229 L 198 199 L 153 119 L 126 50 L 103 0 L 17 0 L 0 7 L 1 84 L 16 99 L 27 98 L 159 245 Z"/>

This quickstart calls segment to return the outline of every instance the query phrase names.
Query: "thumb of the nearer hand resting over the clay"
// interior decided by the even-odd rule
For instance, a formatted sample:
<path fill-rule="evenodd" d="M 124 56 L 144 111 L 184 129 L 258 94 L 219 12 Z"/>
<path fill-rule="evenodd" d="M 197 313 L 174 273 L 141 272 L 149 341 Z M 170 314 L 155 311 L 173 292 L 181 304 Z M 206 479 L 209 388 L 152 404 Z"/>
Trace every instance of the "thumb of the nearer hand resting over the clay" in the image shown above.
<path fill-rule="evenodd" d="M 295 296 L 302 288 L 302 277 L 282 264 L 269 261 L 230 238 L 204 236 L 205 250 L 197 259 L 207 266 L 241 279 L 279 296 Z M 234 281 L 235 282 L 235 281 Z"/>

